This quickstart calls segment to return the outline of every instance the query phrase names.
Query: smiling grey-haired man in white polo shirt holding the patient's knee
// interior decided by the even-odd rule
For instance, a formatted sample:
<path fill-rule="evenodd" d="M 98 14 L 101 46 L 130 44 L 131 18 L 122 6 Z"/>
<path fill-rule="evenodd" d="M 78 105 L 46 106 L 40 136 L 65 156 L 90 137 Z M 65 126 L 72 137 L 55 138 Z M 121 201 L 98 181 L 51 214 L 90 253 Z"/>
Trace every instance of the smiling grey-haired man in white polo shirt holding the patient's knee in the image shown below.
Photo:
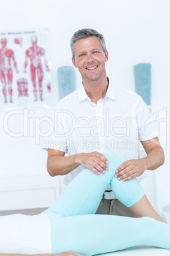
<path fill-rule="evenodd" d="M 162 165 L 164 152 L 157 127 L 148 122 L 147 105 L 136 93 L 114 87 L 107 77 L 108 51 L 103 36 L 93 29 L 81 29 L 72 36 L 70 46 L 82 85 L 56 105 L 55 134 L 48 138 L 49 145 L 55 145 L 48 146 L 49 174 L 65 175 L 66 185 L 83 168 L 104 175 L 108 160 L 103 152 L 108 150 L 115 150 L 126 159 L 115 174 L 124 182 Z M 139 141 L 147 153 L 141 159 Z M 136 217 L 110 187 L 103 194 L 97 213 Z"/>

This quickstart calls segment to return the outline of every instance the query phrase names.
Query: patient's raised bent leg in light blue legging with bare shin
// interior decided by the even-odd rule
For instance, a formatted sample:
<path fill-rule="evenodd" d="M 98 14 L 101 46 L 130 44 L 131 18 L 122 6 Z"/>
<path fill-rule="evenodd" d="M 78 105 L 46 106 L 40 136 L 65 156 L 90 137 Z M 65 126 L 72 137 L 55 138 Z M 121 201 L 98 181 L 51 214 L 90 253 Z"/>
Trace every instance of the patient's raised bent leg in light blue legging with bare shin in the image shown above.
<path fill-rule="evenodd" d="M 114 177 L 115 170 L 124 162 L 121 155 L 117 152 L 106 152 L 104 155 L 108 159 L 108 171 L 100 175 L 92 173 L 89 169 L 81 171 L 46 213 L 58 213 L 65 217 L 95 214 L 103 191 L 110 183 L 119 201 L 131 208 L 139 217 L 148 216 L 158 220 L 159 215 L 144 196 L 145 192 L 136 178 L 119 181 Z M 163 221 L 161 218 L 159 220 Z"/>

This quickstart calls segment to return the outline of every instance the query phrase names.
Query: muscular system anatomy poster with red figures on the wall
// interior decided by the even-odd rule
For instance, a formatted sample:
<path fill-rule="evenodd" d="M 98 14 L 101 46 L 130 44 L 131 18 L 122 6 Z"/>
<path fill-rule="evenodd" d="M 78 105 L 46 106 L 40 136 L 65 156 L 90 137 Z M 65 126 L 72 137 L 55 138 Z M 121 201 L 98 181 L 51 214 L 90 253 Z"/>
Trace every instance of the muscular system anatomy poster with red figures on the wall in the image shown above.
<path fill-rule="evenodd" d="M 51 106 L 48 29 L 0 31 L 0 110 Z"/>

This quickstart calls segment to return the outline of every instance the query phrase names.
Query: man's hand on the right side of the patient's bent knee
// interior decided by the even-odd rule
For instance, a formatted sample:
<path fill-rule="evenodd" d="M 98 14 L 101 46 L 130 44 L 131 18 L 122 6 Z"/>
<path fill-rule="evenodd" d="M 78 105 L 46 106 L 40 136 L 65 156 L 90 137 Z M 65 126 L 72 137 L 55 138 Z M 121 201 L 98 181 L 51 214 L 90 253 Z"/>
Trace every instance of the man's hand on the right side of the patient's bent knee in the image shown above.
<path fill-rule="evenodd" d="M 128 181 L 140 176 L 145 169 L 145 159 L 128 160 L 117 168 L 115 177 L 118 180 Z"/>

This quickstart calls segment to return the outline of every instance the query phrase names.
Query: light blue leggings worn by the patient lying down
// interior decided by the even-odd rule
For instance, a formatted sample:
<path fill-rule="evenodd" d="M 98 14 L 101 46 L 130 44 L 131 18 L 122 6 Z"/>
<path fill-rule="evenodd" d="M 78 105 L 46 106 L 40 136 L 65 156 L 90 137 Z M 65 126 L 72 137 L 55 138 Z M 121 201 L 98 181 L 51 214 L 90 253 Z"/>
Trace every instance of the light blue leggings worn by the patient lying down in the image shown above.
<path fill-rule="evenodd" d="M 52 252 L 95 255 L 136 245 L 170 249 L 170 225 L 148 217 L 95 215 L 109 183 L 115 196 L 128 207 L 145 194 L 136 178 L 124 182 L 114 177 L 116 168 L 124 162 L 121 155 L 104 155 L 109 168 L 105 174 L 96 175 L 84 169 L 45 211 L 51 222 Z"/>

